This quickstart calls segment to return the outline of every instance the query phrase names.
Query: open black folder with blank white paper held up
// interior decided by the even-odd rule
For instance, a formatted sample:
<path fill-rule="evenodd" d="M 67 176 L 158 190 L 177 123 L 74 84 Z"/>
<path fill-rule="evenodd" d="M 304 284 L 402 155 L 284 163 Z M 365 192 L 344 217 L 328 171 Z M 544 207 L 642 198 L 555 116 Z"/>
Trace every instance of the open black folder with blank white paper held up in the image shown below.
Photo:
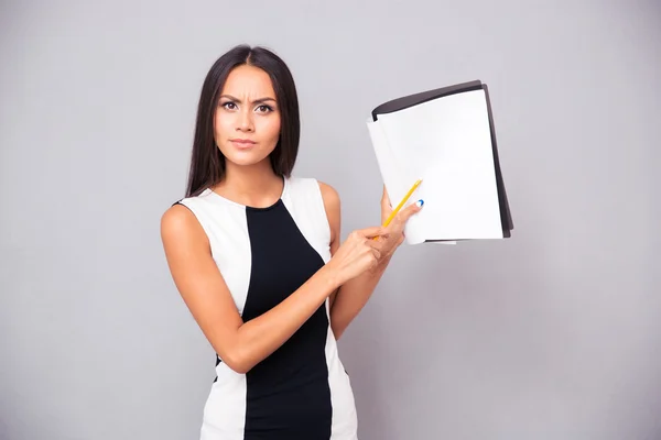
<path fill-rule="evenodd" d="M 393 205 L 422 179 L 408 201 L 424 200 L 407 223 L 408 243 L 511 237 L 486 84 L 463 82 L 384 102 L 367 127 Z"/>

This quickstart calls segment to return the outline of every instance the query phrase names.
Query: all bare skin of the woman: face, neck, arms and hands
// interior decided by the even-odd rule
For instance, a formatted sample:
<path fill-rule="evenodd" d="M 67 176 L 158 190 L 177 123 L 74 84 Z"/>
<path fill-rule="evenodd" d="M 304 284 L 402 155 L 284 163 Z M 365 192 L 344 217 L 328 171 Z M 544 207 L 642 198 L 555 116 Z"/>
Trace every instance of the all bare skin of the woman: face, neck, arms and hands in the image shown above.
<path fill-rule="evenodd" d="M 257 67 L 240 66 L 230 73 L 220 95 L 214 134 L 226 157 L 227 173 L 212 189 L 241 205 L 271 206 L 283 190 L 283 182 L 269 162 L 281 124 L 271 80 Z M 254 144 L 241 147 L 234 139 Z M 407 220 L 421 209 L 412 205 L 400 211 L 388 228 L 353 231 L 340 244 L 339 196 L 327 184 L 319 183 L 319 187 L 332 230 L 330 261 L 280 305 L 248 322 L 237 310 L 195 216 L 180 205 L 162 216 L 161 239 L 174 283 L 216 353 L 238 373 L 247 373 L 281 346 L 326 299 L 332 306 L 330 326 L 335 338 L 339 338 L 402 243 Z M 390 210 L 383 190 L 381 220 Z"/>

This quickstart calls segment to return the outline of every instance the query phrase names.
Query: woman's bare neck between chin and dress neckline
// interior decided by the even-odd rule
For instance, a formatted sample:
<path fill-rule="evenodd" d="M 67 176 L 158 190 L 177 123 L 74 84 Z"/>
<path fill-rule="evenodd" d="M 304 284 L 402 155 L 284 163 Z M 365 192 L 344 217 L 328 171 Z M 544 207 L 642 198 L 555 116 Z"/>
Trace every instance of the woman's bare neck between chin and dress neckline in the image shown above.
<path fill-rule="evenodd" d="M 251 166 L 226 162 L 225 178 L 214 190 L 241 205 L 271 206 L 282 194 L 282 178 L 273 173 L 268 157 Z"/>

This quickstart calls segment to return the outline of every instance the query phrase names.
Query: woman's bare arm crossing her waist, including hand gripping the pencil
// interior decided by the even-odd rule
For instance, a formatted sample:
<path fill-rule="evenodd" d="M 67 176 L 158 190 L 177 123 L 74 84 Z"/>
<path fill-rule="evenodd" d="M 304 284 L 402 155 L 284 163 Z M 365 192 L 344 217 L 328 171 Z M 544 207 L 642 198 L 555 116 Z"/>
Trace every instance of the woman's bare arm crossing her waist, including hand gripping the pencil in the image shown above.
<path fill-rule="evenodd" d="M 175 205 L 161 220 L 167 265 L 182 298 L 218 356 L 238 373 L 248 372 L 281 346 L 342 283 L 376 264 L 378 252 L 367 237 L 379 229 L 354 233 L 339 257 L 277 307 L 243 322 L 195 216 Z"/>

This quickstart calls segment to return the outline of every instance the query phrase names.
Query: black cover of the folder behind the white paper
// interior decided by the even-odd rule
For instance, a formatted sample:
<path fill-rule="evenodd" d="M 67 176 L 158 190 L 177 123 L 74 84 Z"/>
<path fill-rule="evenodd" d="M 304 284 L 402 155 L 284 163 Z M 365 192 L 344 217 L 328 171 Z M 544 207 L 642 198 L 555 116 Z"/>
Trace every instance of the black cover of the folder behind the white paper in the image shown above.
<path fill-rule="evenodd" d="M 507 191 L 505 189 L 505 182 L 502 179 L 502 172 L 500 169 L 500 160 L 498 158 L 498 145 L 496 142 L 496 129 L 494 125 L 494 113 L 491 111 L 491 101 L 489 99 L 489 89 L 486 84 L 480 80 L 473 80 L 462 84 L 456 84 L 448 87 L 442 87 L 434 90 L 422 91 L 420 94 L 409 95 L 405 97 L 397 98 L 388 102 L 383 102 L 379 107 L 375 108 L 371 112 L 372 120 L 377 121 L 379 114 L 393 113 L 395 111 L 404 110 L 409 107 L 418 106 L 433 99 L 448 97 L 455 94 L 463 94 L 466 91 L 480 90 L 485 91 L 487 99 L 487 112 L 489 116 L 489 128 L 491 130 L 491 148 L 494 152 L 494 167 L 496 170 L 496 187 L 498 190 L 498 204 L 500 207 L 500 223 L 502 226 L 502 238 L 508 239 L 511 237 L 511 231 L 514 229 L 512 216 L 509 208 L 509 201 L 507 199 Z M 444 240 L 427 240 L 427 241 L 444 241 Z"/>

